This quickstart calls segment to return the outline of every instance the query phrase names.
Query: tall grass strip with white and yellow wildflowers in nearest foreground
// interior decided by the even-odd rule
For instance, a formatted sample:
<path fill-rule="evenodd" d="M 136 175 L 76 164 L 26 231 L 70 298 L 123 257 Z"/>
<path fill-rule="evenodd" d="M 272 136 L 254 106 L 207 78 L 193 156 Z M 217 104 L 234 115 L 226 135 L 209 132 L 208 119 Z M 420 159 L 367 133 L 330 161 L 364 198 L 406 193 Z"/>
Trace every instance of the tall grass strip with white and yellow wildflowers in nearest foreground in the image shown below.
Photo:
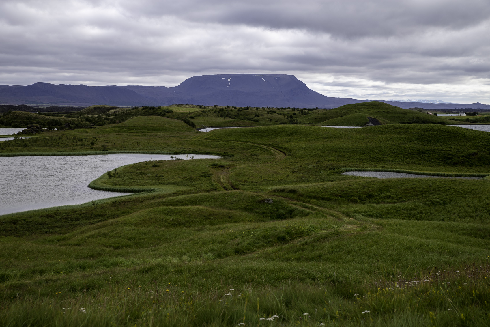
<path fill-rule="evenodd" d="M 386 274 L 388 273 L 388 274 Z M 387 277 L 387 276 L 390 276 Z M 381 277 L 384 276 L 384 277 Z M 3 294 L 1 326 L 488 326 L 488 260 L 428 268 L 409 278 L 396 267 L 355 284 L 283 281 L 277 287 L 111 281 L 76 294 Z M 10 294 L 8 294 L 10 295 Z M 468 305 L 471 303 L 471 305 Z M 244 325 L 245 324 L 245 325 Z"/>

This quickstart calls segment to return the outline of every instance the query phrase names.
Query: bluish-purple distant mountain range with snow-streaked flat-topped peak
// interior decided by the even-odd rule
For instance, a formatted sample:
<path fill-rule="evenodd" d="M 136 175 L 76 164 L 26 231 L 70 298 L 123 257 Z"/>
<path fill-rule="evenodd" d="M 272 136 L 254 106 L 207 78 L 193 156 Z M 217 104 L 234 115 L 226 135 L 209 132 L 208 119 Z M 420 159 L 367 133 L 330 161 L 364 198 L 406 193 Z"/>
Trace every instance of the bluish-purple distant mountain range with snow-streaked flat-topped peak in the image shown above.
<path fill-rule="evenodd" d="M 294 75 L 221 74 L 201 75 L 174 87 L 146 85 L 86 86 L 49 84 L 0 85 L 0 104 L 90 106 L 158 106 L 179 103 L 202 105 L 336 108 L 366 102 L 350 98 L 327 97 L 309 89 Z M 401 108 L 490 109 L 481 103 L 423 103 L 383 101 Z"/>

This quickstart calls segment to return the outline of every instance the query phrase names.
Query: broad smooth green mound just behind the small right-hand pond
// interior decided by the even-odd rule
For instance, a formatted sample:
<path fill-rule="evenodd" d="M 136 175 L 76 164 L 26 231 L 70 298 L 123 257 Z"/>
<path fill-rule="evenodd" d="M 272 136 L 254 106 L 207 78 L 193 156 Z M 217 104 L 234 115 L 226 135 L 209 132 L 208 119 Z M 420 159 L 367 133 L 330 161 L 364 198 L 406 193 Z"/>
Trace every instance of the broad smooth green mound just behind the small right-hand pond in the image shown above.
<path fill-rule="evenodd" d="M 198 137 L 259 143 L 280 149 L 289 155 L 281 165 L 288 165 L 289 169 L 298 171 L 301 173 L 299 176 L 304 175 L 303 171 L 328 173 L 332 169 L 344 167 L 442 172 L 490 171 L 490 134 L 456 126 L 261 126 L 216 129 Z M 296 157 L 309 162 L 300 167 L 301 164 L 294 159 Z"/>

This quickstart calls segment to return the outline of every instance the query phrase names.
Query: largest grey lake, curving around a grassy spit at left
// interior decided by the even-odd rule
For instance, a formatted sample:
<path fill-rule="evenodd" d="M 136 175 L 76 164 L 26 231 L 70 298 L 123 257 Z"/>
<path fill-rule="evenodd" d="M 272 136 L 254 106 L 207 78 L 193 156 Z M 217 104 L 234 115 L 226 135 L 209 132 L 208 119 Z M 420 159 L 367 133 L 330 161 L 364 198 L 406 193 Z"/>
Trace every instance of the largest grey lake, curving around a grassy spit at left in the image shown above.
<path fill-rule="evenodd" d="M 219 158 L 193 155 L 194 159 Z M 185 154 L 173 156 L 186 159 Z M 108 170 L 150 158 L 171 160 L 170 154 L 136 153 L 0 157 L 0 215 L 129 194 L 93 190 L 88 184 Z"/>

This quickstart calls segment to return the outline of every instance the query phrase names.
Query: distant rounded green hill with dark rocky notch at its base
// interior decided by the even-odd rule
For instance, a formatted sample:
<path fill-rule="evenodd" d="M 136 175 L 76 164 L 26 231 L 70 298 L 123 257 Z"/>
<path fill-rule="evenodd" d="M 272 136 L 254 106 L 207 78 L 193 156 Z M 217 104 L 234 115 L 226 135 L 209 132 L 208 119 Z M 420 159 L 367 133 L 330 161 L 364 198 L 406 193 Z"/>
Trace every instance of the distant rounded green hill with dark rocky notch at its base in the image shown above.
<path fill-rule="evenodd" d="M 442 117 L 402 109 L 379 101 L 346 104 L 335 109 L 307 115 L 300 121 L 319 125 L 364 126 L 368 123 L 367 116 L 376 118 L 383 124 L 455 124 L 454 121 Z"/>

